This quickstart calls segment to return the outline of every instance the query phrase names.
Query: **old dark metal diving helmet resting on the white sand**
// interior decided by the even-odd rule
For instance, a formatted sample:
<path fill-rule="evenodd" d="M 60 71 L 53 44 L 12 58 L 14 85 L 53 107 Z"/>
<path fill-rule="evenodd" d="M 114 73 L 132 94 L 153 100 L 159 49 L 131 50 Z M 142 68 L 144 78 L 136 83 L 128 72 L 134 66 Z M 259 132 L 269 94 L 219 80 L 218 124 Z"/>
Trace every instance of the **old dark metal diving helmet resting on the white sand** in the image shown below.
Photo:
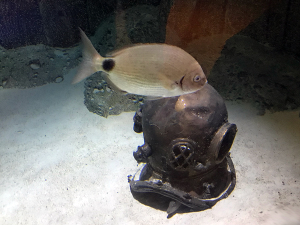
<path fill-rule="evenodd" d="M 143 163 L 128 176 L 133 197 L 175 213 L 212 207 L 230 194 L 235 170 L 229 156 L 236 125 L 209 84 L 181 96 L 146 100 L 133 117 L 144 144 L 133 152 Z"/>

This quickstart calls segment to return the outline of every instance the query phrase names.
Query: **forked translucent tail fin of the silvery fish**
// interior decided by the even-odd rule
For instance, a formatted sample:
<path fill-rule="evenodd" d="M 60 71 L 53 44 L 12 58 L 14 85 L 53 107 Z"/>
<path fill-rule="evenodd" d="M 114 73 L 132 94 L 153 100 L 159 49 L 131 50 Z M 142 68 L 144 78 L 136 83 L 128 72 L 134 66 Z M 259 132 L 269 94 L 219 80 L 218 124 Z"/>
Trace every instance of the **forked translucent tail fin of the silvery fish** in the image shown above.
<path fill-rule="evenodd" d="M 102 61 L 103 57 L 94 48 L 86 34 L 80 29 L 81 40 L 83 43 L 82 61 L 79 64 L 76 75 L 72 80 L 72 84 L 80 82 L 82 79 L 90 76 L 98 71 L 96 69 L 96 62 Z"/>

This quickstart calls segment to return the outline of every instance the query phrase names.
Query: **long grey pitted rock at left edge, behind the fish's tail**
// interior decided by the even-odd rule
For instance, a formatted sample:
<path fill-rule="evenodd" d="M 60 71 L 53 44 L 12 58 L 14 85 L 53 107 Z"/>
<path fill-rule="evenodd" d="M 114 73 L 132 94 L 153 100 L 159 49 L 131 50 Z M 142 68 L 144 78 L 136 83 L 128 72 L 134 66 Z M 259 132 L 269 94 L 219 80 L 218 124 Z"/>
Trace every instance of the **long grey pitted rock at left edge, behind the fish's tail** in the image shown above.
<path fill-rule="evenodd" d="M 57 82 L 57 74 L 61 74 L 58 79 L 63 79 L 63 75 L 77 65 L 75 59 L 81 54 L 81 48 L 74 46 L 64 49 L 70 57 L 69 64 L 66 64 L 65 59 L 54 60 L 58 59 L 55 50 L 43 44 L 4 50 L 4 53 L 0 53 L 1 64 L 5 65 L 0 68 L 0 81 L 6 82 L 3 87 L 24 88 Z"/>

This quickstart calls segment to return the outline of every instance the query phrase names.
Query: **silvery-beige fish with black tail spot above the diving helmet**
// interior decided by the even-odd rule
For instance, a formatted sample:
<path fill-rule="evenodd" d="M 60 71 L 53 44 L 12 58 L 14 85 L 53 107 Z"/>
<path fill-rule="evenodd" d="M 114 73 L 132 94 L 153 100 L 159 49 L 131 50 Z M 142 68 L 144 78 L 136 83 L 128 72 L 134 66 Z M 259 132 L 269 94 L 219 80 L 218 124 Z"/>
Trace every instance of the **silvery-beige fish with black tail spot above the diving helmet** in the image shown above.
<path fill-rule="evenodd" d="M 165 43 L 134 44 L 103 57 L 86 34 L 79 30 L 83 42 L 82 61 L 73 84 L 102 71 L 105 81 L 112 88 L 155 98 L 192 93 L 207 83 L 197 60 L 177 46 Z"/>

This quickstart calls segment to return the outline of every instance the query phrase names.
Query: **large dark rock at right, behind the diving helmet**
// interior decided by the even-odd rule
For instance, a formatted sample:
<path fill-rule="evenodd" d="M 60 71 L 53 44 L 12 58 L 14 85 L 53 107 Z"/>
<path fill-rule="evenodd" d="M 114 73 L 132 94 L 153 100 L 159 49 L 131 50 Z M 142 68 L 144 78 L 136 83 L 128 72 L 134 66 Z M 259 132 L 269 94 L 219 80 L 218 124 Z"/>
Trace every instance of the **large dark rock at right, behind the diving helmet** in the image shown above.
<path fill-rule="evenodd" d="M 226 41 L 208 82 L 227 100 L 277 111 L 300 106 L 299 71 L 300 61 L 292 54 L 234 35 Z"/>

